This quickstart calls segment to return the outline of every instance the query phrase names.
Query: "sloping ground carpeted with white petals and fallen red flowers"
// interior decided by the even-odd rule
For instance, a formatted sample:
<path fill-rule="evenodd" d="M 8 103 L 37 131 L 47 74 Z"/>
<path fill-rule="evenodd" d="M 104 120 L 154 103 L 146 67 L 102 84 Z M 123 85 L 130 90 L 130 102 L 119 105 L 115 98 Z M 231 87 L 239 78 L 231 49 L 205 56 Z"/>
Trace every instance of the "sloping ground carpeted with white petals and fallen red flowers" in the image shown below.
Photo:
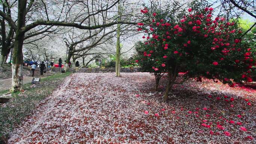
<path fill-rule="evenodd" d="M 149 73 L 75 73 L 17 125 L 10 144 L 252 144 L 256 93 L 191 79 L 162 101 Z"/>

